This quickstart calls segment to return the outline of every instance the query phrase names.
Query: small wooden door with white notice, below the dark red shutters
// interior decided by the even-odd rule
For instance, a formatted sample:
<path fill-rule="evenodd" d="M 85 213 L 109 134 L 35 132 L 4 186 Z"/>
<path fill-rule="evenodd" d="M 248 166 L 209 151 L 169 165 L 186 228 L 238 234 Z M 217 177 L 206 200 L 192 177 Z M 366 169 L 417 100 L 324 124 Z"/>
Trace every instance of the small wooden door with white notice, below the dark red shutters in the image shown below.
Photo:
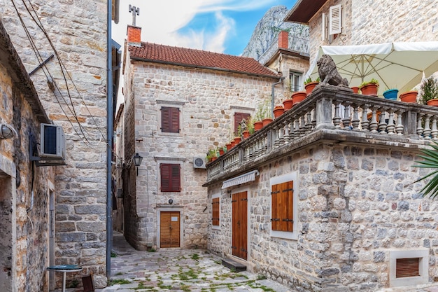
<path fill-rule="evenodd" d="M 180 247 L 180 213 L 162 211 L 160 213 L 160 247 Z"/>

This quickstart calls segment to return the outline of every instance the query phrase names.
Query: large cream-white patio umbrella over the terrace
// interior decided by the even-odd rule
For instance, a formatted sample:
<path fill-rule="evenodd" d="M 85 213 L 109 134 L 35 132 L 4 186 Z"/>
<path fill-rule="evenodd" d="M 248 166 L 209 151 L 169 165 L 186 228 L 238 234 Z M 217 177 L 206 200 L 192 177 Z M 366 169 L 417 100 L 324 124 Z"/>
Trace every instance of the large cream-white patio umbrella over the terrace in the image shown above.
<path fill-rule="evenodd" d="M 424 76 L 438 71 L 438 41 L 411 43 L 378 43 L 361 46 L 320 46 L 304 79 L 318 78 L 316 61 L 323 55 L 332 57 L 339 74 L 347 78 L 350 87 L 372 78 L 379 81 L 379 95 L 397 88 L 409 91 Z"/>

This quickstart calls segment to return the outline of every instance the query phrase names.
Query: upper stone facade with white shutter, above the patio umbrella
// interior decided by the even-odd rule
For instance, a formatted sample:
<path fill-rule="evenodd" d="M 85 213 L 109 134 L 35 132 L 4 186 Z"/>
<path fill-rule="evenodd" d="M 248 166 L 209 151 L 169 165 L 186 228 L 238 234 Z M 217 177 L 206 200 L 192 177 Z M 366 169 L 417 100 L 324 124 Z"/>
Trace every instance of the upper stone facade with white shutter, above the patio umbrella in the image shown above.
<path fill-rule="evenodd" d="M 322 40 L 322 14 L 342 5 L 343 29 L 337 38 Z M 437 1 L 330 0 L 309 21 L 311 62 L 319 46 L 366 45 L 393 41 L 438 39 Z"/>

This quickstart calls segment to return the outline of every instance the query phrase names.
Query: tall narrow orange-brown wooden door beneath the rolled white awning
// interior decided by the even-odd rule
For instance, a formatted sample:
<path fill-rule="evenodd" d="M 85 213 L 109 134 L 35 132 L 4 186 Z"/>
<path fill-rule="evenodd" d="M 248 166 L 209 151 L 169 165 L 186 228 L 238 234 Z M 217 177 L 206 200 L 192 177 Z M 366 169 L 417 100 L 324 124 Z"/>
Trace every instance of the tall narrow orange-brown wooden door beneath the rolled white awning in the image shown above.
<path fill-rule="evenodd" d="M 232 251 L 233 256 L 246 260 L 248 256 L 248 194 L 232 195 Z"/>

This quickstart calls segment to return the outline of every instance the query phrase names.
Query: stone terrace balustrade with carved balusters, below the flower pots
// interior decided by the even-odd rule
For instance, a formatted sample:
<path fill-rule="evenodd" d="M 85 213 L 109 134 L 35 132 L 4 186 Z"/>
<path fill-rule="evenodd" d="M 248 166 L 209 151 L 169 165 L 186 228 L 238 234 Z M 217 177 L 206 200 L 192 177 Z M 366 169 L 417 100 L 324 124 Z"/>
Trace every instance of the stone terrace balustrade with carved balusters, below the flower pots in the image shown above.
<path fill-rule="evenodd" d="M 438 139 L 438 108 L 320 85 L 303 102 L 207 165 L 204 186 L 324 142 L 425 148 Z"/>

